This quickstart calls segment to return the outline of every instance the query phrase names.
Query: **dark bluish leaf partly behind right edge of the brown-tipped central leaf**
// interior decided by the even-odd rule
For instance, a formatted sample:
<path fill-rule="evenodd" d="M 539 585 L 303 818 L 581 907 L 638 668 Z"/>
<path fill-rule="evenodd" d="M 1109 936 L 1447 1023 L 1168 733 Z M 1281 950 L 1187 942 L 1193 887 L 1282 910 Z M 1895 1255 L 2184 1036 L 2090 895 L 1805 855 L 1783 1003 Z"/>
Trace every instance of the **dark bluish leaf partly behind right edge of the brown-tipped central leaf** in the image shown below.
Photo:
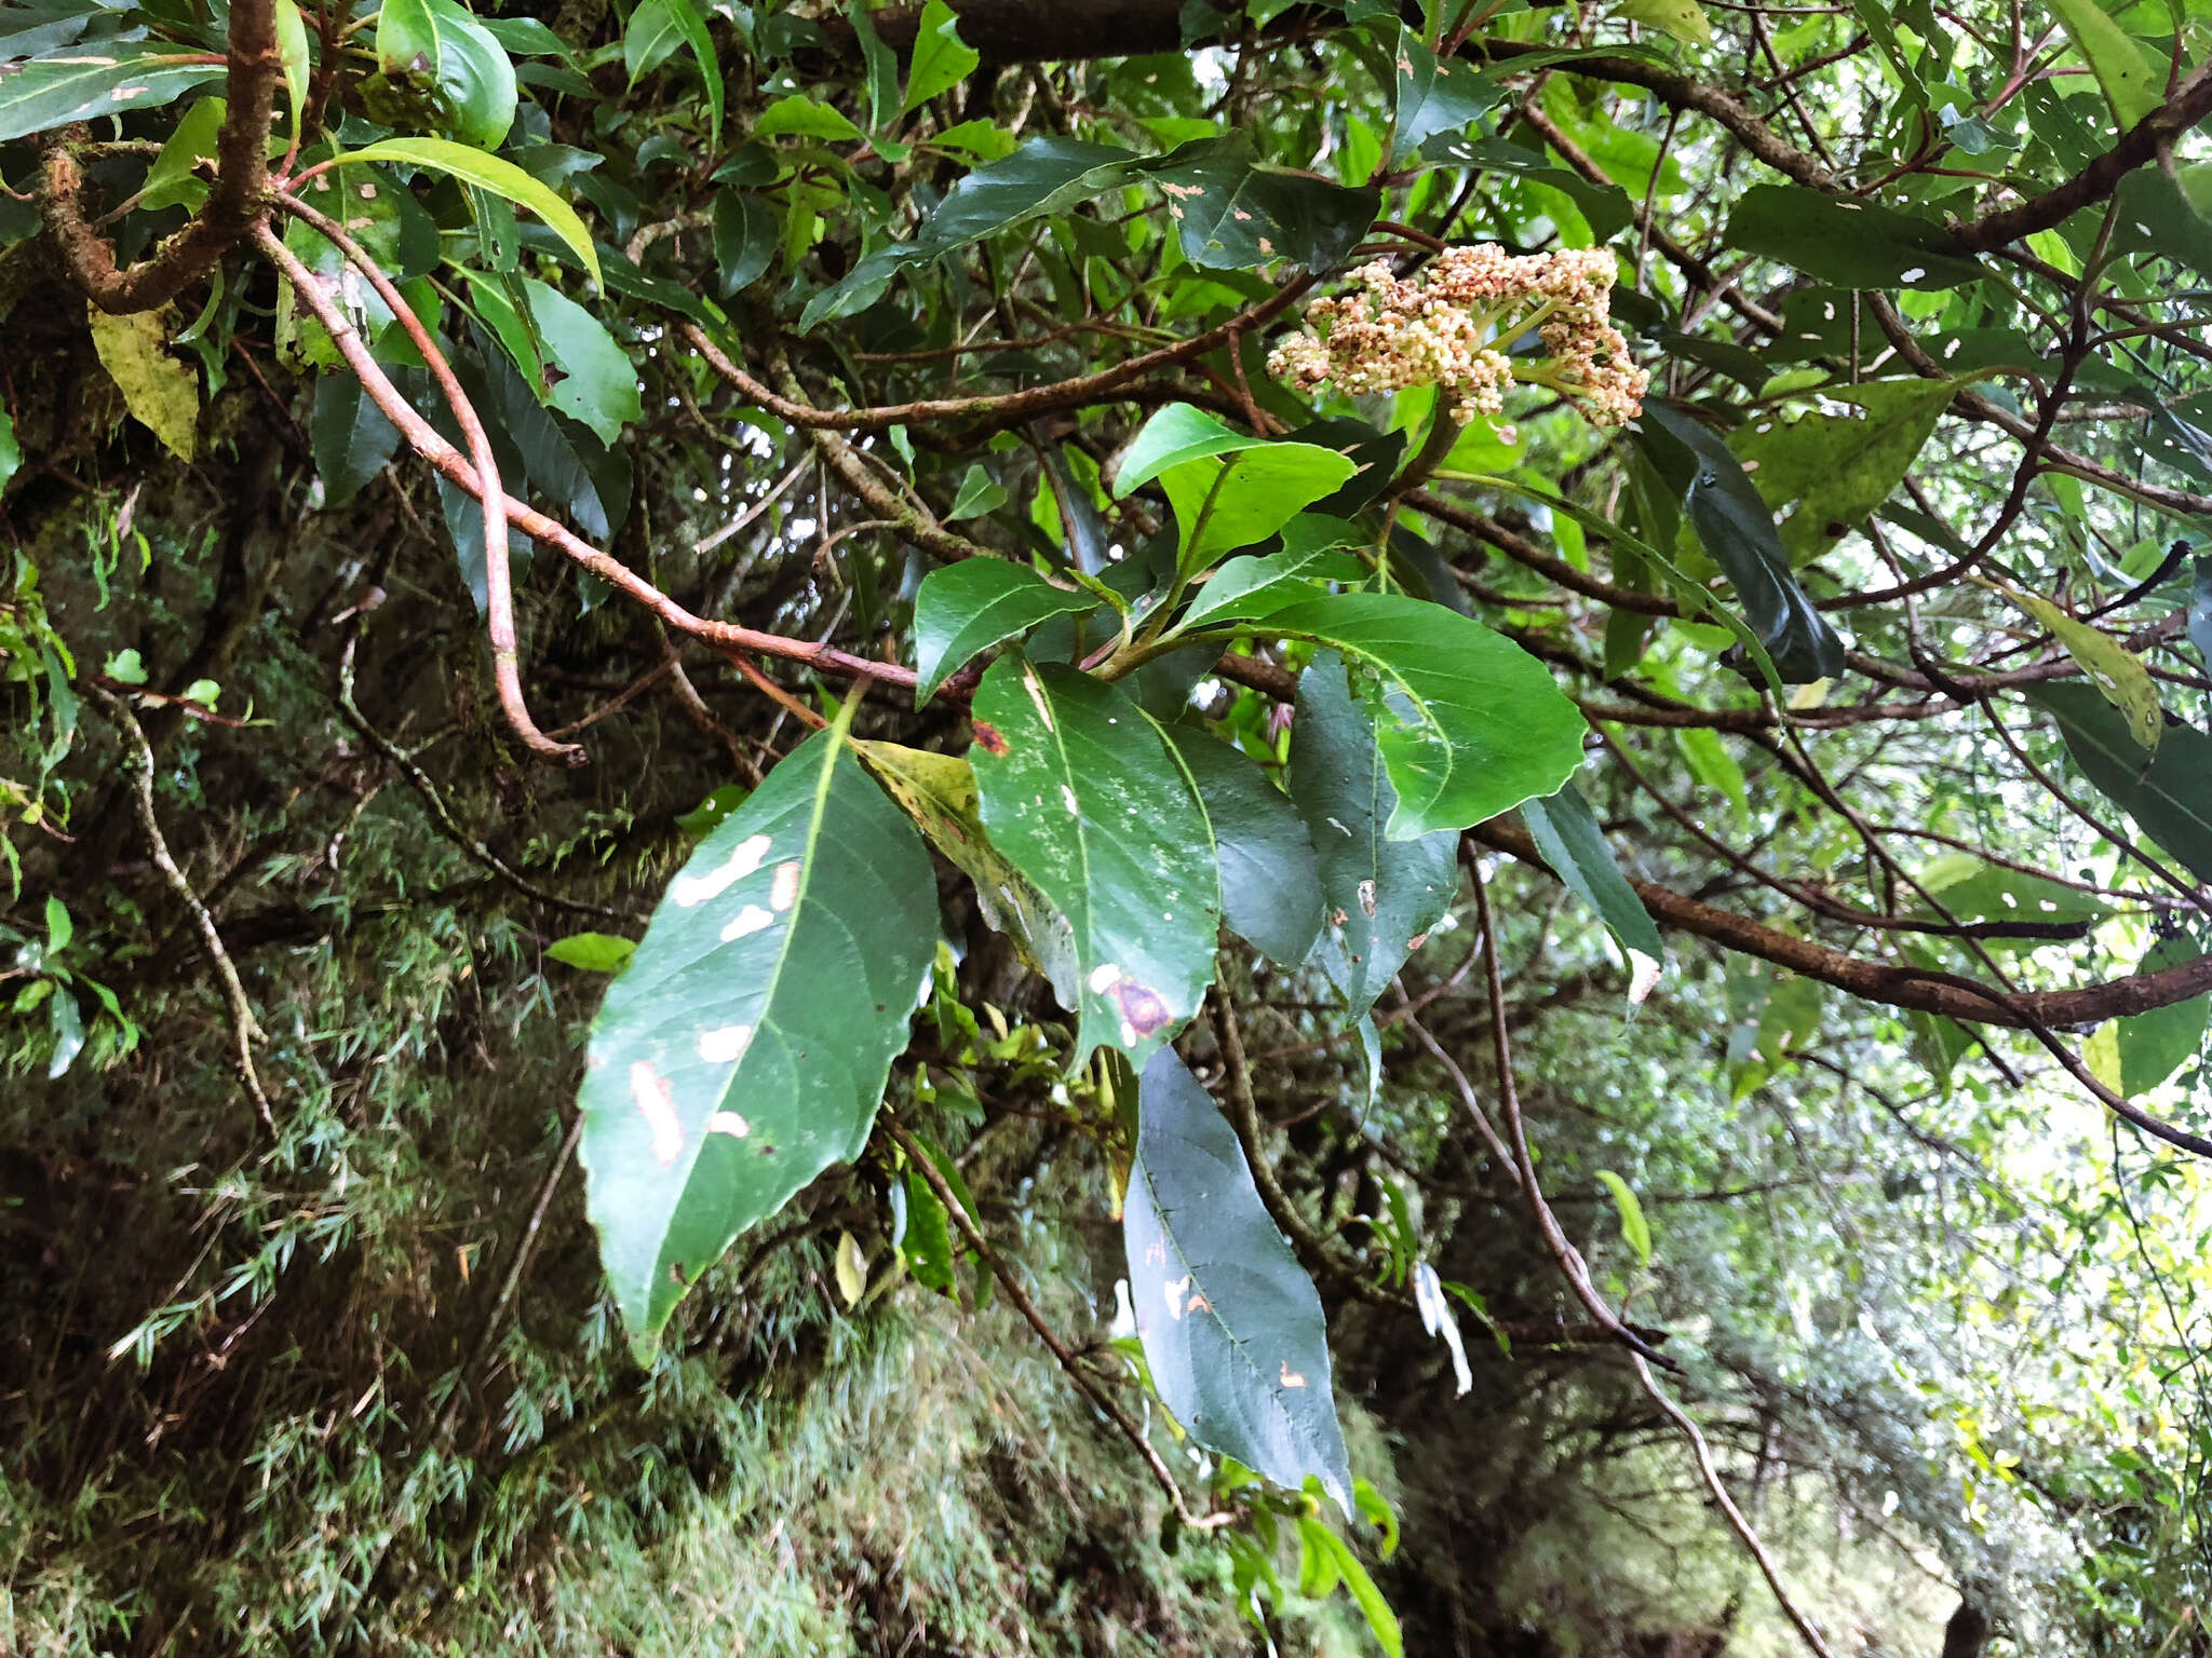
<path fill-rule="evenodd" d="M 1214 829 L 1221 920 L 1276 966 L 1303 966 L 1321 937 L 1321 867 L 1298 807 L 1228 743 L 1190 725 L 1166 732 Z"/>

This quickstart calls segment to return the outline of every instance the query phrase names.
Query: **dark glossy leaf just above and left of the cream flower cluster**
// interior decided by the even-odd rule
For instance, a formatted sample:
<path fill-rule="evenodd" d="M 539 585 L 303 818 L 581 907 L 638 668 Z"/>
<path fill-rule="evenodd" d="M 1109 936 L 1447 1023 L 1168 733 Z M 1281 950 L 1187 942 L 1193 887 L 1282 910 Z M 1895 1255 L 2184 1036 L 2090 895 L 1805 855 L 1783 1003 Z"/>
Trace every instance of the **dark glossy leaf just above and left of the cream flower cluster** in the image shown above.
<path fill-rule="evenodd" d="M 1183 256 L 1206 270 L 1256 270 L 1276 259 L 1329 270 L 1383 210 L 1380 190 L 1259 166 L 1248 133 L 1181 144 L 1144 172 L 1168 197 Z"/>

